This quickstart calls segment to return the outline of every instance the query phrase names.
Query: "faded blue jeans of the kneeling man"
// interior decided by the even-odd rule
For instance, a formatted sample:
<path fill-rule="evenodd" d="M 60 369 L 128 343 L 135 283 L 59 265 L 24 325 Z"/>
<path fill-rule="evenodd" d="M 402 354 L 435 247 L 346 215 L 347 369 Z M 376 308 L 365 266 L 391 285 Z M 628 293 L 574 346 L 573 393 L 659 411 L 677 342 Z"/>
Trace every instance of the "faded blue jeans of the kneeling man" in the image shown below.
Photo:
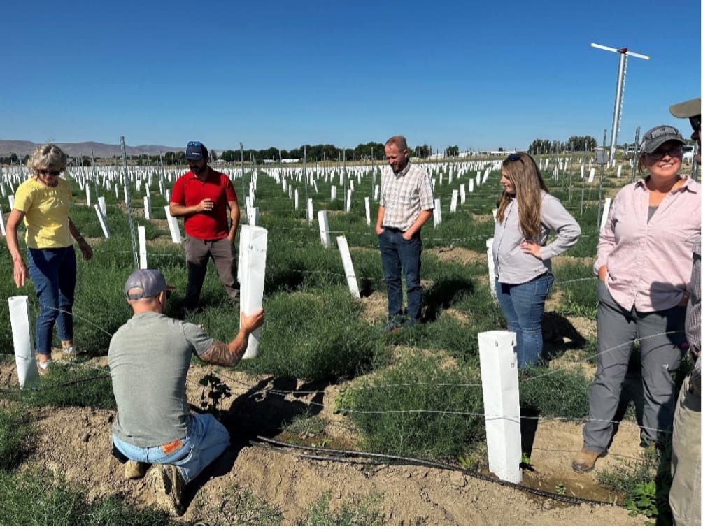
<path fill-rule="evenodd" d="M 177 466 L 183 481 L 188 483 L 227 449 L 229 433 L 211 414 L 192 414 L 188 435 L 173 443 L 141 448 L 125 443 L 113 433 L 112 444 L 132 461 Z"/>

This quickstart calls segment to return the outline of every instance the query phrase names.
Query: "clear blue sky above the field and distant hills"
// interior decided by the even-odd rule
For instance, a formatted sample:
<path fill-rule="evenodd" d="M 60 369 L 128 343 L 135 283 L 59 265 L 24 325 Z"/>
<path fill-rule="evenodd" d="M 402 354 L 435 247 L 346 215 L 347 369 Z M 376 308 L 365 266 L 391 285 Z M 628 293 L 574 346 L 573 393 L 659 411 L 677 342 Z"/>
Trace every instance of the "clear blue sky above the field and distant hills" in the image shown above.
<path fill-rule="evenodd" d="M 3 8 L 0 138 L 210 148 L 527 148 L 688 124 L 698 0 L 33 1 Z"/>

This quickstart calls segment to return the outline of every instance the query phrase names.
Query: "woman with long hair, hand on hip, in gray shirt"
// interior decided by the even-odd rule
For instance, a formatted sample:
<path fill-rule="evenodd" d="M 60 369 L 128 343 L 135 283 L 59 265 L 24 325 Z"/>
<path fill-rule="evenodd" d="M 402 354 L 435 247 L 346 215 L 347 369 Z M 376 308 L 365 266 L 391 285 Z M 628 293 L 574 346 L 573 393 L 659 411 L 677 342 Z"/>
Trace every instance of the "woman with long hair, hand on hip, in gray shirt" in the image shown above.
<path fill-rule="evenodd" d="M 517 367 L 537 363 L 542 353 L 544 301 L 554 282 L 550 259 L 576 244 L 581 228 L 549 194 L 527 152 L 503 161 L 493 259 L 496 294 L 508 330 L 515 332 Z M 550 232 L 555 239 L 547 243 Z"/>

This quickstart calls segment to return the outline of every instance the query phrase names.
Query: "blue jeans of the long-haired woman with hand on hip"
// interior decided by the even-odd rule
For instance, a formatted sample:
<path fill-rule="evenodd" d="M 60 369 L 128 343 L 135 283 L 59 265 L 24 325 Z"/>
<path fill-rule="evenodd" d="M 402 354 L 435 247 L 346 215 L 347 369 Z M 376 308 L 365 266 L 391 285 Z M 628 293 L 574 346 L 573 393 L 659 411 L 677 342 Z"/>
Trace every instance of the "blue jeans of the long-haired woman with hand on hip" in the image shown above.
<path fill-rule="evenodd" d="M 517 367 L 536 364 L 542 353 L 542 314 L 544 301 L 554 282 L 554 276 L 546 273 L 520 285 L 501 283 L 496 280 L 496 294 L 501 305 L 508 330 L 517 337 Z"/>

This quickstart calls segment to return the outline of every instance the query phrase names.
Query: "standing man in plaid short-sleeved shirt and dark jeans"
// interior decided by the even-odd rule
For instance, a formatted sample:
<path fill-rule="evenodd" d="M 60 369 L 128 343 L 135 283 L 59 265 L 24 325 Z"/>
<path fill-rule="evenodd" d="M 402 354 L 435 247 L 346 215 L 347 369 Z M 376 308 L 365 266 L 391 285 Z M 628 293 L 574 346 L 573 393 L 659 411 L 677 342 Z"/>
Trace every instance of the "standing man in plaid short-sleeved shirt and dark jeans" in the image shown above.
<path fill-rule="evenodd" d="M 420 285 L 420 229 L 432 217 L 432 181 L 423 169 L 408 158 L 404 136 L 393 136 L 385 145 L 390 169 L 381 177 L 381 198 L 376 220 L 378 246 L 388 294 L 388 323 L 384 332 L 420 321 L 423 287 Z M 407 319 L 404 318 L 401 270 L 408 292 Z"/>

